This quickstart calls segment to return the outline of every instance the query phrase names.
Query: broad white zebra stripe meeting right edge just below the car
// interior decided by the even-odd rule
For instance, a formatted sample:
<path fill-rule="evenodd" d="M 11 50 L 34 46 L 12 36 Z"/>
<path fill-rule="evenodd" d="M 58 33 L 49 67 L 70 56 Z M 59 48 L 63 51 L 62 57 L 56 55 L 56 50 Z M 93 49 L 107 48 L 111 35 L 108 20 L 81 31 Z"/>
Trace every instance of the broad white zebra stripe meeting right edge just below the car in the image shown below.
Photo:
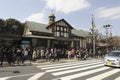
<path fill-rule="evenodd" d="M 106 73 L 100 74 L 100 75 L 98 75 L 98 76 L 94 76 L 94 77 L 92 77 L 92 78 L 88 78 L 88 79 L 86 79 L 86 80 L 102 80 L 103 78 L 106 78 L 106 77 L 108 77 L 108 76 L 110 76 L 110 75 L 113 75 L 113 74 L 115 74 L 115 73 L 117 73 L 117 72 L 120 72 L 120 69 L 114 69 L 114 70 L 108 71 L 108 72 L 106 72 Z M 120 80 L 120 79 L 119 79 L 119 80 Z"/>

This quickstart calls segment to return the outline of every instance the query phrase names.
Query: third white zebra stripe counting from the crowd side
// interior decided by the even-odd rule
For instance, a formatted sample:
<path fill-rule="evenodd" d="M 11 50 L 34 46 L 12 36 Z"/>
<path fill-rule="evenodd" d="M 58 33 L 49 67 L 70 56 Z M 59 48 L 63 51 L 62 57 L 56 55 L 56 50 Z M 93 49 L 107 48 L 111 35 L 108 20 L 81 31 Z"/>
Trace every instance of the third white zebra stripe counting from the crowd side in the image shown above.
<path fill-rule="evenodd" d="M 57 69 L 46 70 L 46 72 L 54 72 L 54 71 L 60 71 L 60 70 L 66 70 L 66 69 L 81 68 L 81 67 L 92 66 L 92 65 L 101 64 L 101 63 L 102 62 L 89 63 L 89 64 L 83 64 L 83 65 L 77 65 L 77 66 L 64 67 L 64 68 L 57 68 Z"/>

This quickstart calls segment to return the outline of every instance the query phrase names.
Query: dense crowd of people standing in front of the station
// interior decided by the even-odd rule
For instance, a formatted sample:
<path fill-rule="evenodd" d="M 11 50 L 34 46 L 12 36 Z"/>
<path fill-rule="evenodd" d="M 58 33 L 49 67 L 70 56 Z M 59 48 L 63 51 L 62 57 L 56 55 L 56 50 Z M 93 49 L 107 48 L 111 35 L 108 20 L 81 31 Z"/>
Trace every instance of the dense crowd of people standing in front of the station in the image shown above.
<path fill-rule="evenodd" d="M 78 60 L 86 60 L 92 55 L 92 51 L 84 48 L 25 48 L 20 47 L 0 47 L 0 65 L 3 61 L 8 62 L 9 65 L 24 64 L 26 60 L 36 62 L 37 59 L 45 59 L 46 61 L 59 61 L 61 58 Z"/>

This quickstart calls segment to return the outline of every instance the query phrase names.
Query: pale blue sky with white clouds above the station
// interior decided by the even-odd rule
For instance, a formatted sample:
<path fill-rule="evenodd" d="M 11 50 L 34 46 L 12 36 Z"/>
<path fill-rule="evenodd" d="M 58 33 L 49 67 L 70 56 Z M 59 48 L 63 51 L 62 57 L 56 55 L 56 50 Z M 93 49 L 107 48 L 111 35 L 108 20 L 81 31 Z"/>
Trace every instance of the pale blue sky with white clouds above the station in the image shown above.
<path fill-rule="evenodd" d="M 105 34 L 103 25 L 111 24 L 113 35 L 120 36 L 120 0 L 0 0 L 2 19 L 47 24 L 51 12 L 56 21 L 64 18 L 75 29 L 87 31 L 93 14 L 99 32 Z"/>

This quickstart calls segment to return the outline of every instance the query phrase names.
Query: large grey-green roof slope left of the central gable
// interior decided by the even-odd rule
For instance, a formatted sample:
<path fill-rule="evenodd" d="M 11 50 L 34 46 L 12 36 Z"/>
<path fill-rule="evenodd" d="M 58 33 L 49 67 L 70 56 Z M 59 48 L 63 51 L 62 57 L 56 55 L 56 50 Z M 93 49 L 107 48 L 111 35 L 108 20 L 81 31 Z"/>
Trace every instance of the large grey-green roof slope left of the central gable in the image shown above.
<path fill-rule="evenodd" d="M 48 29 L 46 29 L 46 27 L 48 26 L 47 24 L 37 23 L 32 21 L 26 21 L 25 23 L 30 31 L 51 33 Z"/>

